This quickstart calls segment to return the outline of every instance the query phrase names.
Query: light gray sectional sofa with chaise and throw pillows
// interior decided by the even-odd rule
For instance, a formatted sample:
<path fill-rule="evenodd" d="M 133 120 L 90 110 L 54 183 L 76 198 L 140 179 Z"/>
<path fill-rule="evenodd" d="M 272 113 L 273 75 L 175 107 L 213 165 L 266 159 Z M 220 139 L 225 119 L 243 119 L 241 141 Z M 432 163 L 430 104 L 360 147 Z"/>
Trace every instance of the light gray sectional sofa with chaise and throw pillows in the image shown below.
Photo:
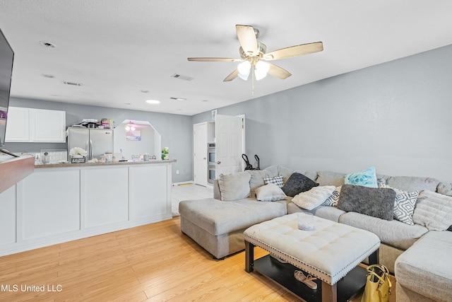
<path fill-rule="evenodd" d="M 300 187 L 287 185 L 296 175 L 301 187 L 309 182 L 311 187 L 294 195 Z M 213 198 L 179 203 L 181 230 L 222 258 L 244 249 L 243 231 L 249 226 L 309 211 L 379 236 L 380 262 L 396 275 L 398 301 L 452 301 L 452 184 L 376 174 L 378 183 L 366 188 L 346 184 L 347 176 L 276 165 L 222 175 Z M 320 194 L 310 194 L 314 191 L 327 197 L 313 199 Z"/>

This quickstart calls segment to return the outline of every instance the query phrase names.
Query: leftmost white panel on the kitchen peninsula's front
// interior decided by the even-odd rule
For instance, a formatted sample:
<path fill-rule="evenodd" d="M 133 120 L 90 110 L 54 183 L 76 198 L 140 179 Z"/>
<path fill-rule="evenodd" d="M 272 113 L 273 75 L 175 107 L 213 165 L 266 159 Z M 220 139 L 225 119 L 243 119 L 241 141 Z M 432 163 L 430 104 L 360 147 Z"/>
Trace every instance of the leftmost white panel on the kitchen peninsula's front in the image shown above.
<path fill-rule="evenodd" d="M 0 193 L 0 246 L 16 242 L 16 185 Z"/>

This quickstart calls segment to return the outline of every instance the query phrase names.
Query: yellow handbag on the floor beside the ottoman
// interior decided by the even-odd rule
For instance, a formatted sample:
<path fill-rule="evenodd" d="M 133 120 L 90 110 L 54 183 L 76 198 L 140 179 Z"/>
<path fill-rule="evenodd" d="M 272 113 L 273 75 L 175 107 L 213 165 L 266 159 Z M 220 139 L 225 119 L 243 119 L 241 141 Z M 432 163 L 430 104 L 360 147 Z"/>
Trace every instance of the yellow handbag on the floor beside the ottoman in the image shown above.
<path fill-rule="evenodd" d="M 367 272 L 361 302 L 388 302 L 392 286 L 388 268 L 384 265 L 369 265 Z"/>

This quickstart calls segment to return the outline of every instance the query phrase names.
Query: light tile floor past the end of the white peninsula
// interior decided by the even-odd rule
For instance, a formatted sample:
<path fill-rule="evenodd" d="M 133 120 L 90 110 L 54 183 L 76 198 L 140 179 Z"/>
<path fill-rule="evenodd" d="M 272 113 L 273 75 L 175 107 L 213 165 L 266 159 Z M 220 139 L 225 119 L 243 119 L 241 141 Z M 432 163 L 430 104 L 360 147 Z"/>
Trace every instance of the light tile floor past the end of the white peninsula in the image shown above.
<path fill-rule="evenodd" d="M 203 199 L 213 197 L 213 187 L 195 185 L 192 183 L 174 184 L 172 186 L 172 216 L 179 216 L 179 202 L 189 199 Z"/>

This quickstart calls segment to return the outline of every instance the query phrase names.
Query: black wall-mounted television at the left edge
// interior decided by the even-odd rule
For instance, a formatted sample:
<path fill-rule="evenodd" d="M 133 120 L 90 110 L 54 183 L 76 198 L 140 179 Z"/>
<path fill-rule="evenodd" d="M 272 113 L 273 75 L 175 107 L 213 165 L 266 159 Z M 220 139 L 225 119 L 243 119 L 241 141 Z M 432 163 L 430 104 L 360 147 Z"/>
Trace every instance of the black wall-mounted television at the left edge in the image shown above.
<path fill-rule="evenodd" d="M 0 147 L 5 145 L 14 52 L 0 29 Z M 5 150 L 0 149 L 5 152 Z M 5 152 L 14 155 L 9 152 Z"/>

